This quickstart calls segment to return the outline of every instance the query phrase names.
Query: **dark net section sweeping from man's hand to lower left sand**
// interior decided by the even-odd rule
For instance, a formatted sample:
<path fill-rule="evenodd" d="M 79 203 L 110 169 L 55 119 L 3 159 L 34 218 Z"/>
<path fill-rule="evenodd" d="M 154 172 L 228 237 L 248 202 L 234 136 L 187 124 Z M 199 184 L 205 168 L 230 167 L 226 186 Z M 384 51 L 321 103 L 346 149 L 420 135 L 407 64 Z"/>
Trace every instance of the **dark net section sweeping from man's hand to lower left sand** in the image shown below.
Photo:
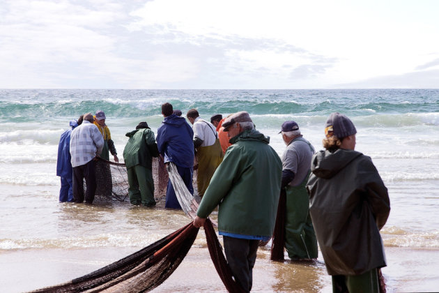
<path fill-rule="evenodd" d="M 33 292 L 148 292 L 185 258 L 199 229 L 192 223 L 113 264 L 60 285 Z"/>

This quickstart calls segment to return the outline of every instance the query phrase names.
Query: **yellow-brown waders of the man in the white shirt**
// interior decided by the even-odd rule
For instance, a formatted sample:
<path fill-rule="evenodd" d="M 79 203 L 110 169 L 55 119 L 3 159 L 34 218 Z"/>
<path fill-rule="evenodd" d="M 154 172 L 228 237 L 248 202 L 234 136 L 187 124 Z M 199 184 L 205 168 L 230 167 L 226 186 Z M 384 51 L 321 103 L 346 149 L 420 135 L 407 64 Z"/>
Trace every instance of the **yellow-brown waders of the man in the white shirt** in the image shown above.
<path fill-rule="evenodd" d="M 198 160 L 198 175 L 197 188 L 198 194 L 202 197 L 209 186 L 210 179 L 217 170 L 217 167 L 222 162 L 224 153 L 222 153 L 221 144 L 219 140 L 215 140 L 215 144 L 208 147 L 199 147 L 197 149 Z"/>

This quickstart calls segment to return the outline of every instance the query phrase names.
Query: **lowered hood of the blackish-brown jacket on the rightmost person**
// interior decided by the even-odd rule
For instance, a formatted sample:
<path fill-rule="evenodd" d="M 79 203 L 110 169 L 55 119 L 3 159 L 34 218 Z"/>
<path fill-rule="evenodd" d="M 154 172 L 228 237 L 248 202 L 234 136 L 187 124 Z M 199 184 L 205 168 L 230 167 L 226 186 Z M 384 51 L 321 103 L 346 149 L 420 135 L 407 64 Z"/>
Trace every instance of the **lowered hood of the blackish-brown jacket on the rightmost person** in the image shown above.
<path fill-rule="evenodd" d="M 337 149 L 337 151 L 318 151 L 311 161 L 311 172 L 317 177 L 330 179 L 352 160 L 361 156 L 359 151 Z"/>

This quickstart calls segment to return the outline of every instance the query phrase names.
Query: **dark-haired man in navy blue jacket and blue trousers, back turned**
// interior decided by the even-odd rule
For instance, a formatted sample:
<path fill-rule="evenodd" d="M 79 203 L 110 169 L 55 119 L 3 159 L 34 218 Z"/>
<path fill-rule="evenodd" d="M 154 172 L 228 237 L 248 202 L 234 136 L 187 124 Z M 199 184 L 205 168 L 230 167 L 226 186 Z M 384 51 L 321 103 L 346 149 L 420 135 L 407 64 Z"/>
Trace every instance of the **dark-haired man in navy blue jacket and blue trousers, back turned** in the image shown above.
<path fill-rule="evenodd" d="M 164 163 L 172 162 L 176 165 L 178 174 L 185 182 L 187 190 L 194 194 L 194 187 L 192 186 L 192 174 L 194 172 L 194 143 L 192 137 L 194 131 L 186 122 L 186 119 L 176 116 L 173 112 L 171 104 L 164 103 L 162 105 L 164 120 L 157 129 L 157 147 L 159 153 L 164 156 Z M 170 179 L 164 207 L 181 209 Z"/>

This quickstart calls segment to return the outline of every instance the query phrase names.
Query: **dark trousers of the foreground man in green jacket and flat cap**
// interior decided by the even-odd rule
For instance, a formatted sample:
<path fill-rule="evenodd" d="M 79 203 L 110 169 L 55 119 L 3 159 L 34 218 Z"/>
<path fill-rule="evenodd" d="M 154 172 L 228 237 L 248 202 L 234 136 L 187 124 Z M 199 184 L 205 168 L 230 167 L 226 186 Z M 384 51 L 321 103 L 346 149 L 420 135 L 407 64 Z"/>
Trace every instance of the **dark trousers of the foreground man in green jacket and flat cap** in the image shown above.
<path fill-rule="evenodd" d="M 245 292 L 250 292 L 253 285 L 253 266 L 259 240 L 239 239 L 229 236 L 222 237 L 224 252 L 232 275 Z"/>

